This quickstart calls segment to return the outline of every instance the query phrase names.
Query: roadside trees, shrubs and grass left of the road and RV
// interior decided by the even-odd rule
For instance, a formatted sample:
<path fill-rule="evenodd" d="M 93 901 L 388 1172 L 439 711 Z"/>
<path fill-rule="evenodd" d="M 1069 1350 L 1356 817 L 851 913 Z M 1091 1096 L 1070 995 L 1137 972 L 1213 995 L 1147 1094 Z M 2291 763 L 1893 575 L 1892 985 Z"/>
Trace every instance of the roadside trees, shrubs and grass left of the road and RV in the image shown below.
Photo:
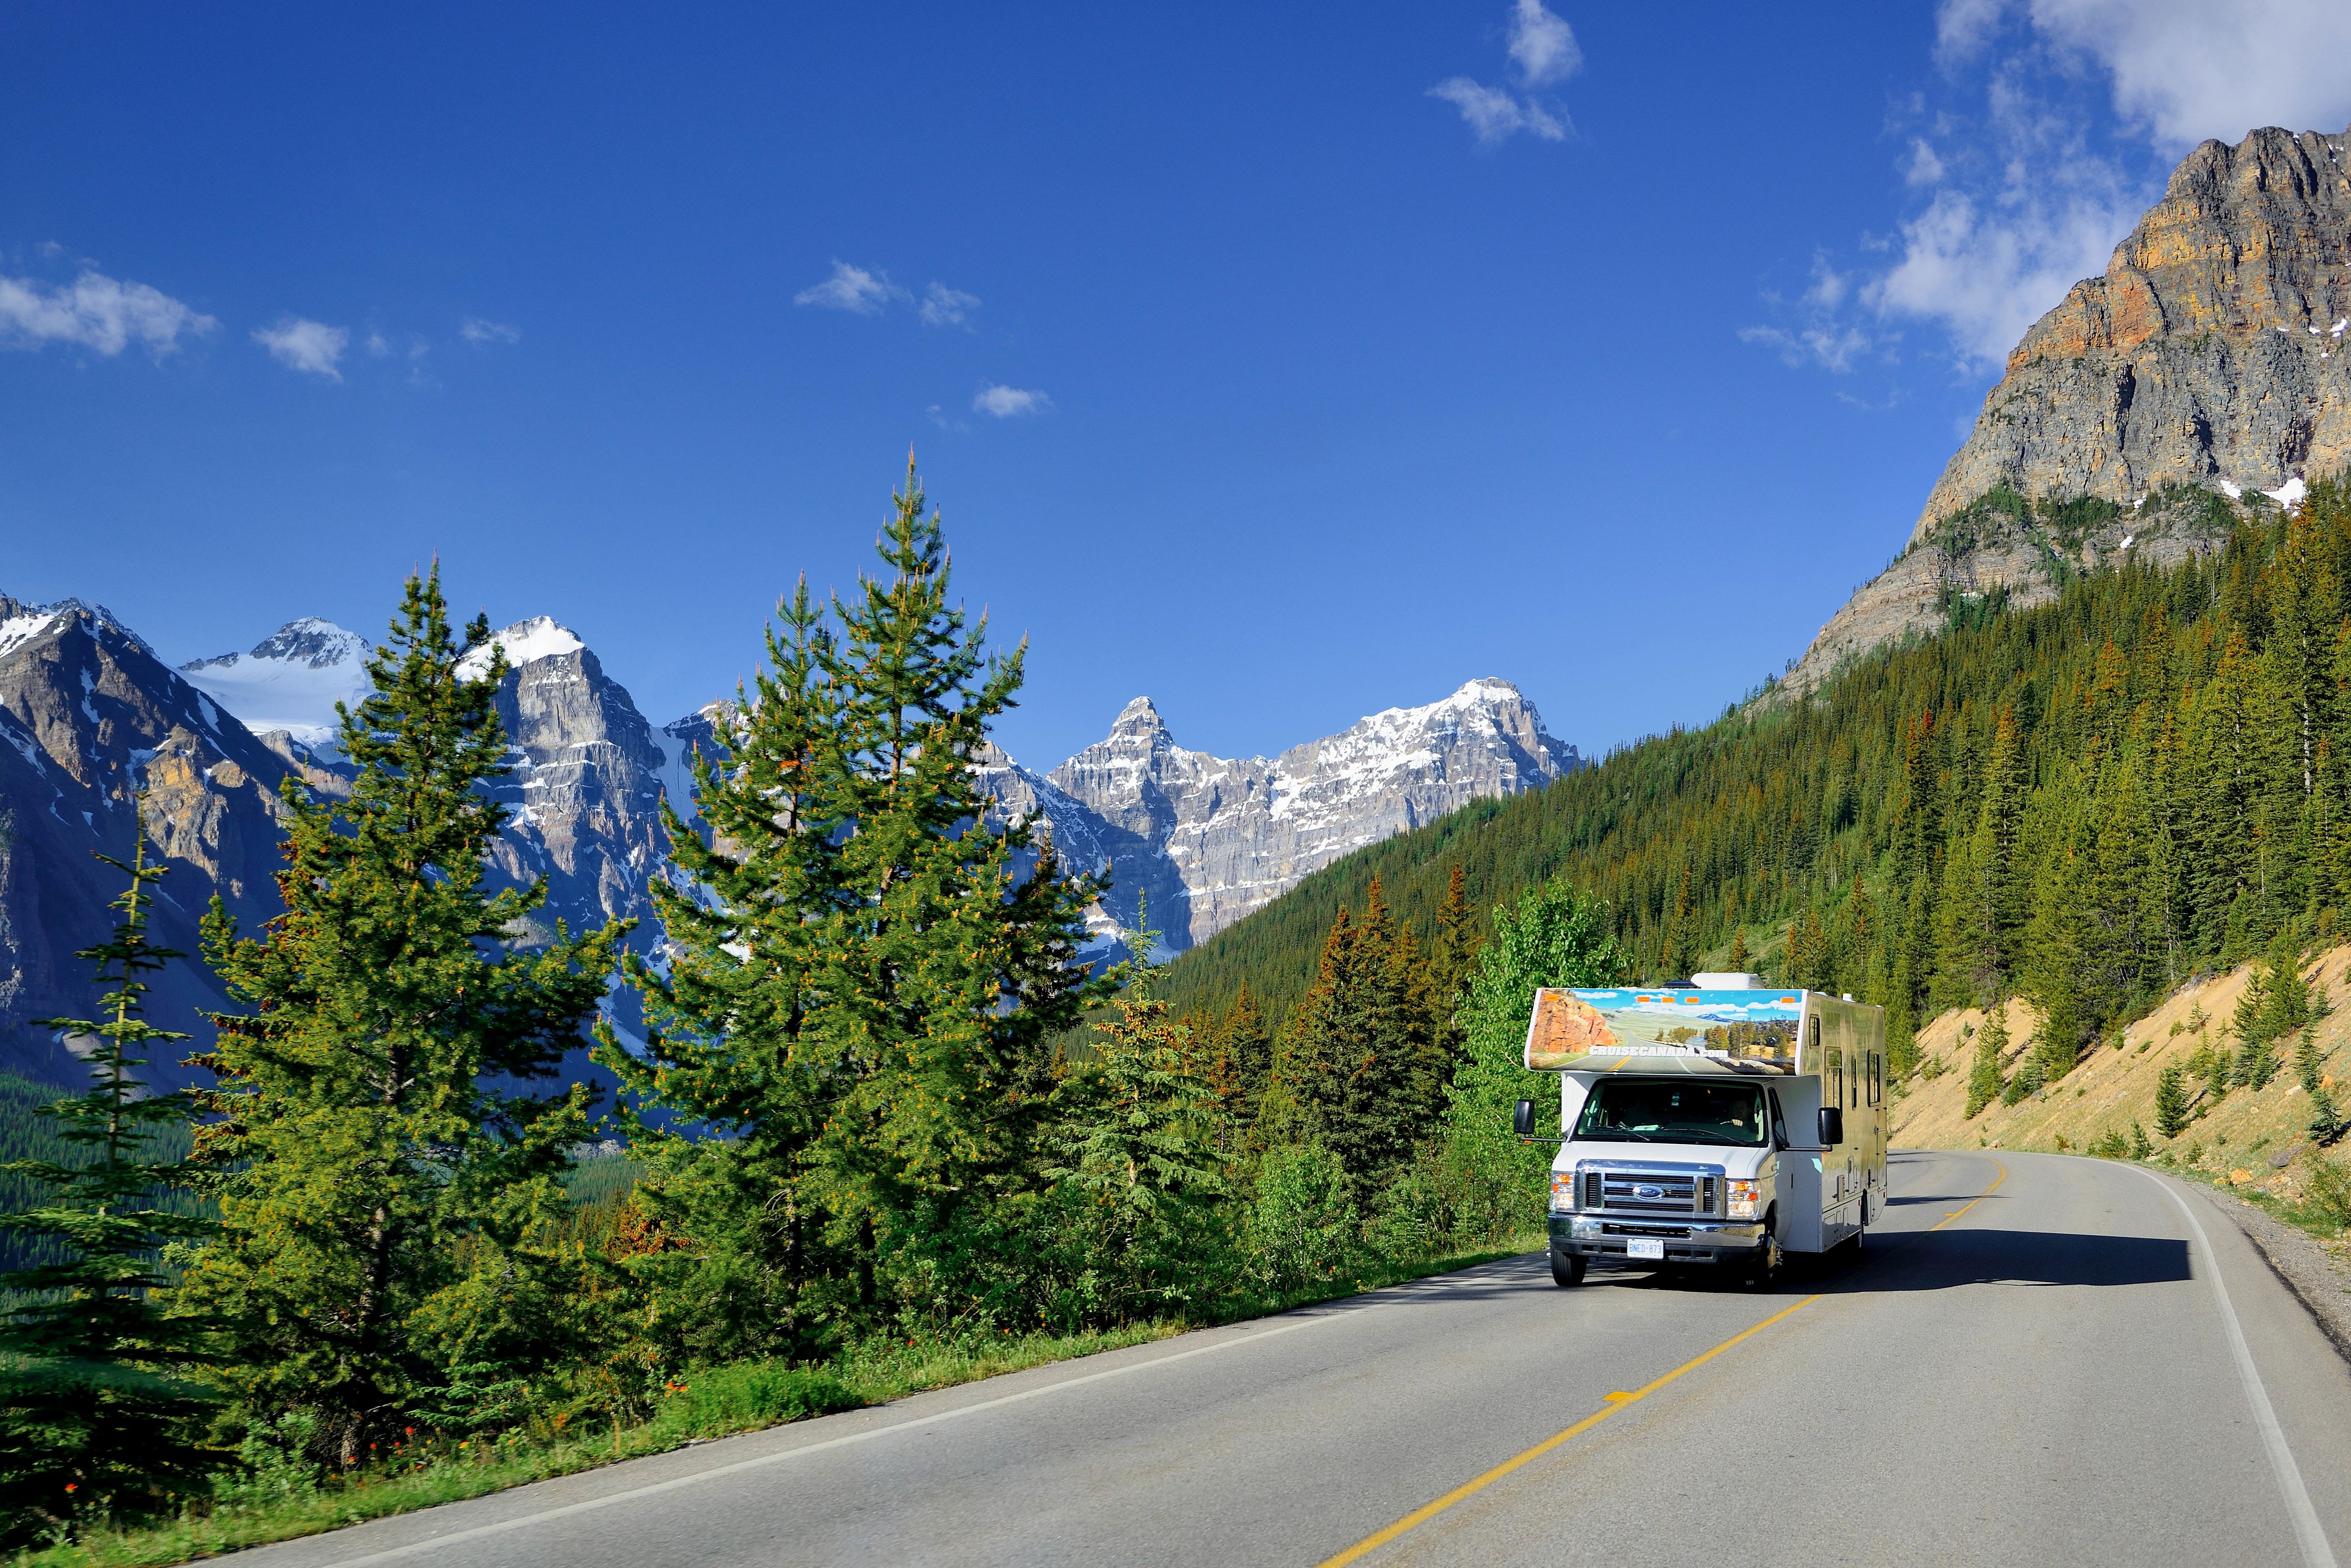
<path fill-rule="evenodd" d="M 343 717 L 348 799 L 287 785 L 282 917 L 158 950 L 162 872 L 122 867 L 94 1016 L 52 1020 L 92 1084 L 9 1150 L 0 1549 L 176 1561 L 1542 1244 L 1519 1034 L 1625 969 L 1606 907 L 1547 884 L 1481 947 L 1455 889 L 1422 947 L 1373 891 L 1279 1041 L 1093 973 L 1107 884 L 976 792 L 1023 651 L 924 505 L 910 470 L 879 571 L 781 607 L 705 830 L 668 820 L 658 961 L 510 940 L 545 891 L 484 863 L 503 656 L 437 574 Z M 190 1044 L 143 985 L 190 961 L 230 1009 L 153 1093 Z M 560 1072 L 583 1034 L 616 1103 Z"/>

